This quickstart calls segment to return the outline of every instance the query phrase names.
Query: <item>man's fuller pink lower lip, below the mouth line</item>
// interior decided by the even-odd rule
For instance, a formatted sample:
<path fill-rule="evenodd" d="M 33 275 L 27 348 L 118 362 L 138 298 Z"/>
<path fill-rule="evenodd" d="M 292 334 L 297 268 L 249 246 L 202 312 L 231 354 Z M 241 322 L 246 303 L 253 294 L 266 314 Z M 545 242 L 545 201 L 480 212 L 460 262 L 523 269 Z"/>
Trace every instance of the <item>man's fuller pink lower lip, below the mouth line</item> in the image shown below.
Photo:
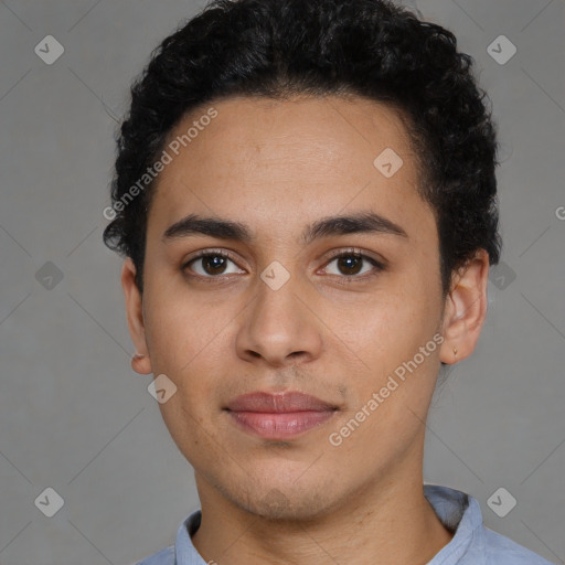
<path fill-rule="evenodd" d="M 335 411 L 323 412 L 232 412 L 234 422 L 245 431 L 266 439 L 287 439 L 299 436 L 330 419 Z"/>

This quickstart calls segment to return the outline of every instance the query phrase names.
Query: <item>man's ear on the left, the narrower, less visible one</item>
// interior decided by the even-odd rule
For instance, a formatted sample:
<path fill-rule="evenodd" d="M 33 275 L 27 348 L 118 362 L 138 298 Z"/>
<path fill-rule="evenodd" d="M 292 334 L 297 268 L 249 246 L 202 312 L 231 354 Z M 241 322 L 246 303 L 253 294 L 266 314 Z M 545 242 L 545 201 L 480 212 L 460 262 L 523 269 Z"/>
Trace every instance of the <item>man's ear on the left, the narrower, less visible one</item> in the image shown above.
<path fill-rule="evenodd" d="M 121 267 L 121 288 L 126 297 L 129 334 L 137 352 L 131 358 L 131 369 L 136 373 L 147 375 L 151 373 L 151 361 L 149 360 L 149 350 L 146 341 L 141 294 L 136 285 L 136 266 L 130 257 L 126 257 Z"/>

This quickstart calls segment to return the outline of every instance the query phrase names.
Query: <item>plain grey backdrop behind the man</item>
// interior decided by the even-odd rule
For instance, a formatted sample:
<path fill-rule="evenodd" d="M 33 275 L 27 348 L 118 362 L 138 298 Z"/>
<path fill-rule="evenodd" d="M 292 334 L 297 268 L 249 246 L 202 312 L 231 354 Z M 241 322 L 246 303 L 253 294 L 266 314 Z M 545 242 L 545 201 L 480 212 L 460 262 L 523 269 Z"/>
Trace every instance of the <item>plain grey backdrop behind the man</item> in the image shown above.
<path fill-rule="evenodd" d="M 129 365 L 121 260 L 102 243 L 102 211 L 129 83 L 203 6 L 0 2 L 2 565 L 134 563 L 199 507 L 151 377 Z M 434 401 L 425 480 L 471 493 L 487 525 L 564 563 L 564 3 L 412 6 L 475 57 L 504 161 L 504 264 L 476 353 Z M 65 49 L 52 65 L 34 53 L 47 34 Z M 500 34 L 518 49 L 505 64 L 487 51 Z M 62 280 L 36 277 L 46 262 Z M 34 504 L 47 487 L 64 499 L 53 518 Z M 518 500 L 505 518 L 487 504 L 500 487 Z"/>

